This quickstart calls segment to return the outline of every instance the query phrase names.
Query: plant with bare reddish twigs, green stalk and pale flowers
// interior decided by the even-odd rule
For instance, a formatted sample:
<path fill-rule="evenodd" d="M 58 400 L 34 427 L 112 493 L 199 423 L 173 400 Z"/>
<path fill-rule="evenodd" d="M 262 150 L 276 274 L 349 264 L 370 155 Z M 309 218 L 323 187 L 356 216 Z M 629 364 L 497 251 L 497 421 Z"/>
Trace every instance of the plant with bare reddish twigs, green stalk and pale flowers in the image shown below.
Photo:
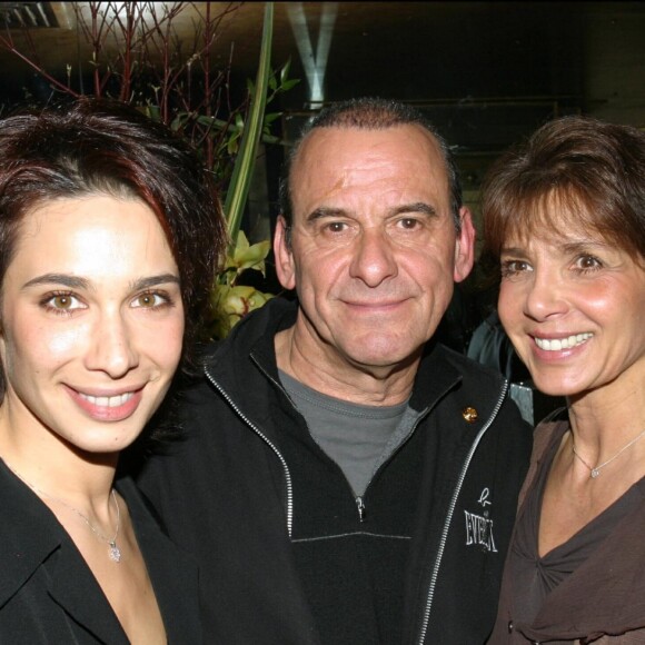
<path fill-rule="evenodd" d="M 289 78 L 289 62 L 271 69 L 274 6 L 265 3 L 258 72 L 248 81 L 247 97 L 229 106 L 229 71 L 211 67 L 211 52 L 222 20 L 239 4 L 204 2 L 70 2 L 79 38 L 89 50 L 89 75 L 72 63 L 60 78 L 40 61 L 37 41 L 29 28 L 0 33 L 0 47 L 26 62 L 56 95 L 111 97 L 135 105 L 150 118 L 180 132 L 200 151 L 204 163 L 216 175 L 225 195 L 224 209 L 229 236 L 228 254 L 214 277 L 212 315 L 208 333 L 221 338 L 248 311 L 271 297 L 244 284 L 245 272 L 266 276 L 269 240 L 249 245 L 240 229 L 258 145 L 279 142 L 271 125 L 280 116 L 267 107 L 298 80 Z M 178 17 L 190 7 L 198 11 L 191 43 L 177 37 Z M 18 37 L 20 36 L 20 38 Z M 188 49 L 187 49 L 188 47 Z"/>

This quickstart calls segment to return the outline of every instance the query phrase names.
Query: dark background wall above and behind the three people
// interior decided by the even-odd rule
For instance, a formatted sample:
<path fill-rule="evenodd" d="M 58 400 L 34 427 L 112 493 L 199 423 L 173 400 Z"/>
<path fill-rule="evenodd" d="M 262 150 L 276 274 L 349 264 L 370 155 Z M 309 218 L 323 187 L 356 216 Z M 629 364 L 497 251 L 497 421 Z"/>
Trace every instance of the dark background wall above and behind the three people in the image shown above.
<path fill-rule="evenodd" d="M 1 2 L 0 20 L 8 17 L 3 29 L 13 28 L 20 42 L 16 12 L 29 20 L 29 11 L 40 21 L 31 33 L 47 68 L 64 75 L 70 64 L 72 73 L 87 73 L 72 4 Z M 205 6 L 195 3 L 197 11 Z M 231 61 L 235 93 L 255 77 L 265 3 L 211 6 L 229 11 L 211 62 Z M 195 24 L 183 12 L 178 38 L 192 39 Z M 282 112 L 287 141 L 326 102 L 361 95 L 413 102 L 455 147 L 475 211 L 490 161 L 550 118 L 580 112 L 645 127 L 644 2 L 276 2 L 274 67 L 287 60 L 301 79 L 272 106 Z M 50 89 L 0 49 L 0 107 L 26 93 L 47 98 Z M 251 196 L 258 221 L 275 208 L 280 151 L 265 160 Z M 265 235 L 266 226 L 258 230 Z"/>

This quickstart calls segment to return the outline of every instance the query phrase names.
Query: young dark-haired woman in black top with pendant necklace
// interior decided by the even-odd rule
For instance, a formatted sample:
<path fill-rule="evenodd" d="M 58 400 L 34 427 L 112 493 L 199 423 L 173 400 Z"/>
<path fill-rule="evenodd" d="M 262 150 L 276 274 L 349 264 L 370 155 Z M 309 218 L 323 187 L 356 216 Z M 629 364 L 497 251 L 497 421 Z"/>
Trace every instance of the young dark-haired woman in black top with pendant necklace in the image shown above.
<path fill-rule="evenodd" d="M 0 121 L 0 642 L 201 642 L 192 560 L 115 474 L 224 244 L 196 153 L 136 110 Z"/>

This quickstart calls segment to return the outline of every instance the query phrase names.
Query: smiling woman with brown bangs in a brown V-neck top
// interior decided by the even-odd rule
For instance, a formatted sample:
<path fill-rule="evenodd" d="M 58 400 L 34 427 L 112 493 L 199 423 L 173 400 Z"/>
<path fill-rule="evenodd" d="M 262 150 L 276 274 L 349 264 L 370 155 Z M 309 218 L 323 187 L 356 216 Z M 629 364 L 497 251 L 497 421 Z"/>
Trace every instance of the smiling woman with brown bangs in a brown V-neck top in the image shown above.
<path fill-rule="evenodd" d="M 535 433 L 490 643 L 645 642 L 645 133 L 543 126 L 483 189 Z"/>

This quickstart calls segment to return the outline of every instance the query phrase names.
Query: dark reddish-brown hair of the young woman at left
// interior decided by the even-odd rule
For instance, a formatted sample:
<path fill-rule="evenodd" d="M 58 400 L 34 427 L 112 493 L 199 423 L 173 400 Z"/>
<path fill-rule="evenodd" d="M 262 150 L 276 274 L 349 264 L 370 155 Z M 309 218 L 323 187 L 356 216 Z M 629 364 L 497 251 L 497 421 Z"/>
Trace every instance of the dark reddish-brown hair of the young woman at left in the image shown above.
<path fill-rule="evenodd" d="M 0 120 L 0 284 L 23 217 L 59 198 L 135 198 L 157 216 L 179 268 L 182 368 L 226 247 L 214 178 L 178 135 L 125 103 L 83 98 Z M 4 394 L 0 374 L 0 400 Z"/>

